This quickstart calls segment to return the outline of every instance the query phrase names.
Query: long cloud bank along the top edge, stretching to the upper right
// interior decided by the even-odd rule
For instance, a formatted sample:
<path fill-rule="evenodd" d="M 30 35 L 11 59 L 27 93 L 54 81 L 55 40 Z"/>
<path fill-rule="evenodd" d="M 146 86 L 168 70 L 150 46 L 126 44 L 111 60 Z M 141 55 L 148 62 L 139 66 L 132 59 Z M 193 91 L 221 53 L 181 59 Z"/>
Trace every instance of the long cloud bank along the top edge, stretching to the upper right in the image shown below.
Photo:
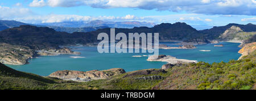
<path fill-rule="evenodd" d="M 144 10 L 187 11 L 196 14 L 256 15 L 255 0 L 34 0 L 39 6 L 73 7 L 91 6 L 97 8 L 138 8 Z M 33 3 L 32 2 L 32 3 Z"/>

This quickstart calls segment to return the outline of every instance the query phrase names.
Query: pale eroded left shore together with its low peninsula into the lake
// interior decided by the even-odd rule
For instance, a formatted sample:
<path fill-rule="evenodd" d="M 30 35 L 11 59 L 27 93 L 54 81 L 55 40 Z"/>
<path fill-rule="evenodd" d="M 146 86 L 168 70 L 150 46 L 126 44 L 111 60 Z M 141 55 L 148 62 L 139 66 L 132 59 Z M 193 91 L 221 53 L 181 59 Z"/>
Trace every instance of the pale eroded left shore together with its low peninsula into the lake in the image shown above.
<path fill-rule="evenodd" d="M 23 45 L 0 43 L 0 62 L 2 64 L 24 65 L 28 64 L 28 61 L 36 56 L 56 56 L 59 54 L 80 53 L 73 52 L 69 48 L 44 48 L 36 51 L 35 49 Z"/>

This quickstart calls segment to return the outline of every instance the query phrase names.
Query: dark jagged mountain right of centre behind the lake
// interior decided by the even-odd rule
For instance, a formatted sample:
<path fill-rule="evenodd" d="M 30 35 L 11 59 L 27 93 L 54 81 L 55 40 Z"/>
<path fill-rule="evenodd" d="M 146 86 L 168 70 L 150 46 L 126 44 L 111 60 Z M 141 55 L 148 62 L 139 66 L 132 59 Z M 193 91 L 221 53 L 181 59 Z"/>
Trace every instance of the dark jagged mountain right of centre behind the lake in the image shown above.
<path fill-rule="evenodd" d="M 100 29 L 97 31 L 92 31 L 88 33 L 98 34 L 100 32 L 110 33 L 109 28 Z M 131 29 L 127 28 L 115 28 L 115 33 L 124 32 L 128 33 L 159 33 L 159 41 L 185 41 L 192 42 L 196 44 L 206 44 L 208 40 L 204 38 L 204 35 L 197 31 L 195 28 L 192 28 L 186 23 L 162 23 L 158 24 L 152 28 L 148 27 L 134 27 Z"/>

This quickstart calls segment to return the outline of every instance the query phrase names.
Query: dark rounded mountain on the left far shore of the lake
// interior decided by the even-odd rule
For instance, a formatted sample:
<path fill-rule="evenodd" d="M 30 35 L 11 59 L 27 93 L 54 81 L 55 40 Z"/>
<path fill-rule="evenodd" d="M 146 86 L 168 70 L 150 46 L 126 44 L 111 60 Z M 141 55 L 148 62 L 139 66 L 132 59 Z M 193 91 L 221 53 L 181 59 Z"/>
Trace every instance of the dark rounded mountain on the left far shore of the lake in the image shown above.
<path fill-rule="evenodd" d="M 57 32 L 48 27 L 20 26 L 0 32 L 0 42 L 24 45 L 40 50 L 67 44 L 86 44 L 96 41 L 96 35 L 84 32 Z"/>

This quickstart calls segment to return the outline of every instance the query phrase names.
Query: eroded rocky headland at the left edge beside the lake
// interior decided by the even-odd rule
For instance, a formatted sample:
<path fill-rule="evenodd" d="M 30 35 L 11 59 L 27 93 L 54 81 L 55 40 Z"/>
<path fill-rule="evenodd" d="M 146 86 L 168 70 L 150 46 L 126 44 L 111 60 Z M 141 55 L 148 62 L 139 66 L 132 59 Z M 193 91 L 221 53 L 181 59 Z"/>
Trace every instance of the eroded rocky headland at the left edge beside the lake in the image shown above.
<path fill-rule="evenodd" d="M 2 64 L 24 65 L 36 55 L 35 50 L 29 47 L 0 43 L 0 62 Z"/>

